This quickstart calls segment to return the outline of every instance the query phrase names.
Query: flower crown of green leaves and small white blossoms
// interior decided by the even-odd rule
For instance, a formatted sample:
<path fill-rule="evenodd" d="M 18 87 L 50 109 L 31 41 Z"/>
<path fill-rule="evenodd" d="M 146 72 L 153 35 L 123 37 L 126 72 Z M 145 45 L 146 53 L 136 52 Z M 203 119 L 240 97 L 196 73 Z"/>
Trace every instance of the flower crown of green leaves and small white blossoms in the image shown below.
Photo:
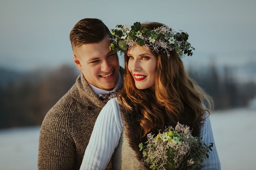
<path fill-rule="evenodd" d="M 151 48 L 152 51 L 166 52 L 168 58 L 170 57 L 169 51 L 176 51 L 179 57 L 187 54 L 192 56 L 192 50 L 195 50 L 191 46 L 187 39 L 189 35 L 187 33 L 176 32 L 175 28 L 168 28 L 163 25 L 161 27 L 154 28 L 153 30 L 141 27 L 140 22 L 135 22 L 131 27 L 128 25 L 116 25 L 120 29 L 111 29 L 113 37 L 111 38 L 112 43 L 110 50 L 115 53 L 118 51 L 125 52 L 127 48 L 133 46 L 133 44 L 139 44 L 145 46 L 147 49 Z"/>

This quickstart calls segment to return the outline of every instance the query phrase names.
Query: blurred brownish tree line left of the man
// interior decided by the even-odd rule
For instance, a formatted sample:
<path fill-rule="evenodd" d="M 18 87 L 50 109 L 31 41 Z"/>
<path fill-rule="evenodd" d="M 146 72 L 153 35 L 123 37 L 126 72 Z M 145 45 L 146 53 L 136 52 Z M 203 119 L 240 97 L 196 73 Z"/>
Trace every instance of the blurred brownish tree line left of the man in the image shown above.
<path fill-rule="evenodd" d="M 77 69 L 63 65 L 46 75 L 26 73 L 0 87 L 0 128 L 41 125 L 78 75 Z"/>

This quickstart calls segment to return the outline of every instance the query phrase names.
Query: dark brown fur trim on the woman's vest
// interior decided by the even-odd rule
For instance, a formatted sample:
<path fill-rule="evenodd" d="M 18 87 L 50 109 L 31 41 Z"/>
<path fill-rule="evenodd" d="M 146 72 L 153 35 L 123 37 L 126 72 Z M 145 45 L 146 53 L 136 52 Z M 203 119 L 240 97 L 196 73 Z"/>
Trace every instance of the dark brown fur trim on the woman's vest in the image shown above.
<path fill-rule="evenodd" d="M 199 137 L 200 129 L 202 126 L 202 123 L 201 123 L 202 120 L 198 120 L 197 122 L 192 122 L 191 120 L 194 120 L 195 114 L 191 111 L 191 109 L 189 108 L 188 105 L 186 105 L 186 104 L 183 104 L 183 105 L 184 105 L 184 111 L 180 115 L 179 123 L 189 126 L 191 130 L 193 129 L 192 135 Z M 138 121 L 140 118 L 140 115 L 136 112 L 127 113 L 124 109 L 122 109 L 122 113 L 123 113 L 124 128 L 126 131 L 125 136 L 127 137 L 129 146 L 135 151 L 136 158 L 140 161 L 140 160 L 142 160 L 143 156 L 142 156 L 142 152 L 139 151 L 139 149 L 140 149 L 139 144 L 147 141 L 147 137 L 141 138 L 142 137 L 142 128 Z M 166 123 L 165 126 L 166 127 L 168 127 L 168 126 L 175 127 L 176 125 Z M 151 132 L 152 132 L 152 134 L 155 134 L 155 135 L 158 134 L 157 129 L 153 130 Z M 145 167 L 149 169 L 148 166 L 145 166 Z"/>

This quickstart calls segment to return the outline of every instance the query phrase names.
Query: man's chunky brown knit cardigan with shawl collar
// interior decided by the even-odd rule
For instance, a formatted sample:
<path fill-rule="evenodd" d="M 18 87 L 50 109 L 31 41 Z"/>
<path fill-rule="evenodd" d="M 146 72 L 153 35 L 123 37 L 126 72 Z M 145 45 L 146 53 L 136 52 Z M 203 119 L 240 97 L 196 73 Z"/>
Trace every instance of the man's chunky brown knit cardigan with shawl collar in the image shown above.
<path fill-rule="evenodd" d="M 38 169 L 79 169 L 103 103 L 84 78 L 46 114 L 39 137 Z"/>

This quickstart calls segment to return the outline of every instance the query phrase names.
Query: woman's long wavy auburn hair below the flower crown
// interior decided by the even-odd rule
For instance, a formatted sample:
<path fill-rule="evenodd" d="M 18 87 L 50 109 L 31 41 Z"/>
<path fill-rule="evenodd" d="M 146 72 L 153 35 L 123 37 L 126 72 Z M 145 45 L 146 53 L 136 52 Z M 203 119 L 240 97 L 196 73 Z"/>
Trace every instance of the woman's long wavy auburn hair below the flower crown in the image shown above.
<path fill-rule="evenodd" d="M 164 24 L 143 23 L 141 27 L 154 29 Z M 201 121 L 206 112 L 213 110 L 212 98 L 187 75 L 183 62 L 176 52 L 170 51 L 170 58 L 164 52 L 156 54 L 157 68 L 155 93 L 148 89 L 140 90 L 135 86 L 133 76 L 128 70 L 127 51 L 124 56 L 124 88 L 118 93 L 119 104 L 126 112 L 139 114 L 143 137 L 153 129 L 164 128 L 164 123 L 177 124 L 184 110 L 183 104 L 195 113 L 195 120 Z"/>

